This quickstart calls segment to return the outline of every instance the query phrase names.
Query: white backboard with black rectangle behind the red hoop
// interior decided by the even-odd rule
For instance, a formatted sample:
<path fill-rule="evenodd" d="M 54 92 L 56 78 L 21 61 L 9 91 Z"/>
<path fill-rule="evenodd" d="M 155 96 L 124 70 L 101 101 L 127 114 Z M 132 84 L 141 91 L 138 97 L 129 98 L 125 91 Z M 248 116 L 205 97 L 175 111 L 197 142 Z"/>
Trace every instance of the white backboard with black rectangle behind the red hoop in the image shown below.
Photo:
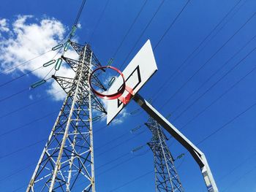
<path fill-rule="evenodd" d="M 141 47 L 128 66 L 124 69 L 124 78 L 126 85 L 132 88 L 133 93 L 137 93 L 140 88 L 148 81 L 148 79 L 157 72 L 157 64 L 154 60 L 154 53 L 151 47 L 150 40 Z M 119 76 L 113 85 L 110 86 L 108 94 L 116 93 L 122 85 L 122 78 Z M 124 91 L 123 96 L 127 95 Z M 108 116 L 107 124 L 109 124 L 119 112 L 124 108 L 124 104 L 118 99 L 108 100 Z"/>

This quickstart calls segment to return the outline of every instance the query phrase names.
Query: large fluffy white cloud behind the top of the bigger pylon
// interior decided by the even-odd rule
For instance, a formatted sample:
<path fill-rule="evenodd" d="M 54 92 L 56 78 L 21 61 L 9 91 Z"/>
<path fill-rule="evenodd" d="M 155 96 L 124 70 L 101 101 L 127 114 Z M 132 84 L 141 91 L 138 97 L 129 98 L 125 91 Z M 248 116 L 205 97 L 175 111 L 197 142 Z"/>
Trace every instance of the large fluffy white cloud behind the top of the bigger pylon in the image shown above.
<path fill-rule="evenodd" d="M 19 15 L 13 23 L 8 23 L 6 19 L 1 19 L 0 71 L 15 74 L 17 72 L 28 72 L 37 69 L 42 64 L 50 61 L 56 55 L 56 52 L 50 51 L 31 62 L 8 71 L 8 69 L 18 64 L 22 64 L 31 58 L 37 57 L 37 55 L 51 50 L 52 47 L 61 42 L 65 34 L 67 34 L 67 28 L 55 18 L 37 20 L 32 15 Z M 70 58 L 78 57 L 75 51 L 72 50 L 69 50 L 65 56 Z M 33 74 L 41 80 L 50 71 L 51 67 L 38 69 Z M 73 77 L 74 74 L 72 69 L 65 65 L 62 65 L 61 69 L 56 73 L 56 75 L 64 77 Z M 56 100 L 64 99 L 64 93 L 53 94 L 61 90 L 60 86 L 53 80 L 48 83 L 50 83 L 48 93 L 52 94 Z"/>

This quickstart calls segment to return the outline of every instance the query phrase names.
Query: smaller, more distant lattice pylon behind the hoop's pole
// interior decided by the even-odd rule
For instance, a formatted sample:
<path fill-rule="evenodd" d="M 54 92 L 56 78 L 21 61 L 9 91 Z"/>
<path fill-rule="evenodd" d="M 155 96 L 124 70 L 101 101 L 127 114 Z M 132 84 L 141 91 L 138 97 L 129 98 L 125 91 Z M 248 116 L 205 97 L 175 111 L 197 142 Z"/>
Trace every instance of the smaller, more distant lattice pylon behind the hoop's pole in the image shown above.
<path fill-rule="evenodd" d="M 149 118 L 145 123 L 152 132 L 151 142 L 148 146 L 154 154 L 154 172 L 155 172 L 155 187 L 157 192 L 183 192 L 176 168 L 173 163 L 173 156 L 170 154 L 165 140 L 167 137 L 162 131 L 161 126 L 153 118 Z"/>

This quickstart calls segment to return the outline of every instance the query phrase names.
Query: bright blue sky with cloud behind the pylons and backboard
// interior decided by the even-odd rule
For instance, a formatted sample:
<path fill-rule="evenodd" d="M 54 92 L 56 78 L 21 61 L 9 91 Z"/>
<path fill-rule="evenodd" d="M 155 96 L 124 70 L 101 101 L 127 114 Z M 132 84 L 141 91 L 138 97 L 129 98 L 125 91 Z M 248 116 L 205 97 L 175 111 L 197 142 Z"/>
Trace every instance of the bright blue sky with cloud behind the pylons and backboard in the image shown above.
<path fill-rule="evenodd" d="M 107 64 L 144 2 L 87 0 L 75 39 L 80 44 L 90 42 L 102 65 Z M 153 99 L 154 107 L 163 115 L 170 114 L 170 122 L 198 144 L 208 158 L 219 191 L 256 191 L 253 52 L 256 42 L 256 38 L 253 38 L 256 32 L 256 2 L 190 1 L 159 42 L 187 1 L 165 1 L 146 28 L 161 2 L 147 1 L 118 50 L 113 66 L 124 69 L 146 40 L 151 39 L 152 46 L 157 45 L 154 55 L 159 70 L 140 94 L 146 99 Z M 4 72 L 56 45 L 70 30 L 78 7 L 80 1 L 2 1 L 1 84 L 48 61 L 53 56 L 51 53 L 29 62 L 23 68 Z M 233 11 L 222 20 L 232 7 Z M 18 23 L 22 19 L 25 21 Z M 222 23 L 217 26 L 221 20 Z M 146 31 L 140 37 L 144 28 Z M 200 45 L 206 37 L 206 41 Z M 200 47 L 195 50 L 198 45 Z M 132 47 L 135 48 L 132 50 Z M 75 55 L 72 52 L 69 54 Z M 191 57 L 187 59 L 189 55 Z M 34 172 L 34 164 L 42 153 L 63 95 L 53 95 L 58 88 L 53 82 L 48 82 L 10 99 L 2 99 L 29 88 L 31 83 L 44 77 L 47 72 L 48 69 L 39 69 L 1 85 L 0 191 L 15 191 L 18 188 L 16 191 L 25 191 L 25 187 L 22 187 L 29 183 Z M 69 71 L 64 70 L 63 73 L 69 74 Z M 151 134 L 145 126 L 130 133 L 132 128 L 145 123 L 148 118 L 146 112 L 141 110 L 129 115 L 137 109 L 138 105 L 132 101 L 126 108 L 127 114 L 122 123 L 110 127 L 105 127 L 105 122 L 94 125 L 94 145 L 98 148 L 95 150 L 97 191 L 115 188 L 116 191 L 154 191 L 154 173 L 151 172 L 154 167 L 153 155 L 145 145 L 151 139 Z M 30 124 L 23 126 L 26 123 Z M 12 132 L 7 132 L 12 129 Z M 132 149 L 141 145 L 141 150 L 131 153 Z M 186 153 L 184 147 L 173 139 L 167 145 L 170 145 L 174 157 Z M 116 158 L 118 160 L 112 164 L 106 164 Z M 200 169 L 189 153 L 178 159 L 176 166 L 185 191 L 206 191 Z M 140 177 L 142 175 L 144 177 Z M 135 180 L 138 177 L 140 179 Z"/>

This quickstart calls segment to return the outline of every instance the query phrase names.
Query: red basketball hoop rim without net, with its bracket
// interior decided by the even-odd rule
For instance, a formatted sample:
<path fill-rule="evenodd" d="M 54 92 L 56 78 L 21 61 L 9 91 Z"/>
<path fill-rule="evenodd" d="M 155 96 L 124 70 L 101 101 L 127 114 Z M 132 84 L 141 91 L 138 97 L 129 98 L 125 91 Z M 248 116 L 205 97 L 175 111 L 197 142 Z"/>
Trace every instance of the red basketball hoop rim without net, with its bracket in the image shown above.
<path fill-rule="evenodd" d="M 91 80 L 92 80 L 94 73 L 97 72 L 98 70 L 102 70 L 102 69 L 106 69 L 106 68 L 113 69 L 116 72 L 118 72 L 118 74 L 120 74 L 120 76 L 123 80 L 121 88 L 119 88 L 119 90 L 116 93 L 113 93 L 113 94 L 100 93 L 99 91 L 96 91 L 92 86 Z M 119 69 L 117 69 L 116 67 L 113 67 L 113 66 L 100 66 L 97 69 L 94 69 L 94 71 L 91 72 L 90 77 L 89 77 L 89 85 L 91 87 L 91 91 L 94 92 L 95 95 L 99 96 L 102 99 L 107 99 L 107 100 L 118 99 L 123 104 L 127 104 L 127 102 L 133 96 L 132 88 L 127 87 L 127 85 L 125 84 L 124 74 Z M 128 93 L 129 93 L 126 97 L 122 96 L 124 91 L 128 91 Z"/>

